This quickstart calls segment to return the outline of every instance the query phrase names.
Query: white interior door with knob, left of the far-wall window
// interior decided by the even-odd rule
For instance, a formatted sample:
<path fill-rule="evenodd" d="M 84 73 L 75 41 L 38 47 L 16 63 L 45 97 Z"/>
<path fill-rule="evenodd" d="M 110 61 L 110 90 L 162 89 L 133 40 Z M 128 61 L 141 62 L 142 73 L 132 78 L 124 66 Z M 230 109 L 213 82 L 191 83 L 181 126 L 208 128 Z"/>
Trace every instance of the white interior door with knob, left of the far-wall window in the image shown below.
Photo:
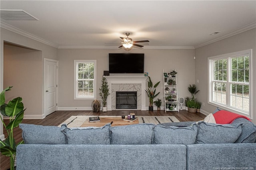
<path fill-rule="evenodd" d="M 57 68 L 58 61 L 44 62 L 44 115 L 57 111 Z"/>

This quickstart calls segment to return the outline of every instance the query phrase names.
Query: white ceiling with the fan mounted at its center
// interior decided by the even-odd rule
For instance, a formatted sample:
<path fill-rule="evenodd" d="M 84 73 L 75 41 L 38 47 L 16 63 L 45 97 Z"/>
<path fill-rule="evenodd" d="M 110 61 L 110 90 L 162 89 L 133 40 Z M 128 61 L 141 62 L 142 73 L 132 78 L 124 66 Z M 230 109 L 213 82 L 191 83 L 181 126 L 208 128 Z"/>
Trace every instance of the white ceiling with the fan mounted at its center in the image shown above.
<path fill-rule="evenodd" d="M 139 43 L 144 48 L 194 48 L 256 27 L 255 0 L 1 0 L 0 8 L 24 10 L 39 20 L 1 18 L 1 27 L 59 48 L 118 47 L 104 42 L 122 42 L 125 32 L 134 41 L 149 40 Z"/>

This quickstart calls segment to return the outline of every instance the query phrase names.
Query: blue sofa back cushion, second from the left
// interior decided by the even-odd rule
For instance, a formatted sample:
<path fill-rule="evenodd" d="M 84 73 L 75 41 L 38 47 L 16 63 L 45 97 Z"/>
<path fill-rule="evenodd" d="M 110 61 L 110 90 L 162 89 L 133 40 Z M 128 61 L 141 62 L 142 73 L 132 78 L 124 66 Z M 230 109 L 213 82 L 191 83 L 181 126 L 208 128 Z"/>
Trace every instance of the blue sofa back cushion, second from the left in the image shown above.
<path fill-rule="evenodd" d="M 110 144 L 110 123 L 103 127 L 76 127 L 61 126 L 67 144 Z"/>

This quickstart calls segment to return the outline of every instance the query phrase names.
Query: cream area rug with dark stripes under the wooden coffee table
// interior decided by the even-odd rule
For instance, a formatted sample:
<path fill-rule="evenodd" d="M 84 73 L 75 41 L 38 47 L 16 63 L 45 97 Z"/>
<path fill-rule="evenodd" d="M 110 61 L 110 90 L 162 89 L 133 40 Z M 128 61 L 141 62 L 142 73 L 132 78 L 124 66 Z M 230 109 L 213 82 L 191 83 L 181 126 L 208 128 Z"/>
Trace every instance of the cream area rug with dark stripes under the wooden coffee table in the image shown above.
<path fill-rule="evenodd" d="M 66 121 L 61 123 L 58 127 L 61 127 L 62 124 L 66 124 L 68 127 L 80 127 L 85 121 L 89 121 L 89 117 L 94 116 L 71 116 Z M 121 116 L 100 116 L 100 117 L 121 117 Z M 170 122 L 180 122 L 174 116 L 137 116 L 139 123 L 170 123 Z"/>

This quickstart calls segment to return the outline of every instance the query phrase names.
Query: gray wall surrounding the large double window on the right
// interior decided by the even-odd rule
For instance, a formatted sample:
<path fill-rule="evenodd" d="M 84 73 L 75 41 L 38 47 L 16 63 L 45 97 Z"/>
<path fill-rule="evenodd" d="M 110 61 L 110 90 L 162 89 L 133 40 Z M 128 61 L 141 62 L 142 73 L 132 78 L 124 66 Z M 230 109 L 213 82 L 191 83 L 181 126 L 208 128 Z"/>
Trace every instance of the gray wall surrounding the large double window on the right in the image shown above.
<path fill-rule="evenodd" d="M 195 50 L 196 54 L 196 77 L 199 79 L 199 83 L 196 83 L 200 92 L 197 95 L 197 99 L 205 103 L 205 106 L 202 106 L 202 110 L 208 113 L 212 113 L 216 109 L 215 106 L 207 104 L 208 101 L 208 73 L 207 73 L 207 59 L 208 57 L 221 55 L 226 53 L 232 53 L 236 51 L 242 51 L 246 49 L 252 49 L 252 75 L 256 75 L 256 28 L 242 32 L 235 36 L 220 40 L 209 45 L 197 48 Z M 256 79 L 253 77 L 252 80 L 252 119 L 256 123 Z"/>

